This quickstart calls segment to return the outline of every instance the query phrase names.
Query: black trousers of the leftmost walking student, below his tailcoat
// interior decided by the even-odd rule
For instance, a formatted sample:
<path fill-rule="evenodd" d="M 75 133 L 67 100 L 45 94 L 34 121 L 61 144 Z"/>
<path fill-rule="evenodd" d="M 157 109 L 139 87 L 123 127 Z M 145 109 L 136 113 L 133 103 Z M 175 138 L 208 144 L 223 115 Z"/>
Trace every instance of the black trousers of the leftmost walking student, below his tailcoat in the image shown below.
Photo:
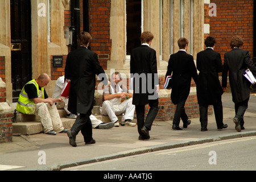
<path fill-rule="evenodd" d="M 92 140 L 92 121 L 90 121 L 90 114 L 78 115 L 71 131 L 76 135 L 81 131 L 84 136 L 84 142 L 90 142 Z"/>

